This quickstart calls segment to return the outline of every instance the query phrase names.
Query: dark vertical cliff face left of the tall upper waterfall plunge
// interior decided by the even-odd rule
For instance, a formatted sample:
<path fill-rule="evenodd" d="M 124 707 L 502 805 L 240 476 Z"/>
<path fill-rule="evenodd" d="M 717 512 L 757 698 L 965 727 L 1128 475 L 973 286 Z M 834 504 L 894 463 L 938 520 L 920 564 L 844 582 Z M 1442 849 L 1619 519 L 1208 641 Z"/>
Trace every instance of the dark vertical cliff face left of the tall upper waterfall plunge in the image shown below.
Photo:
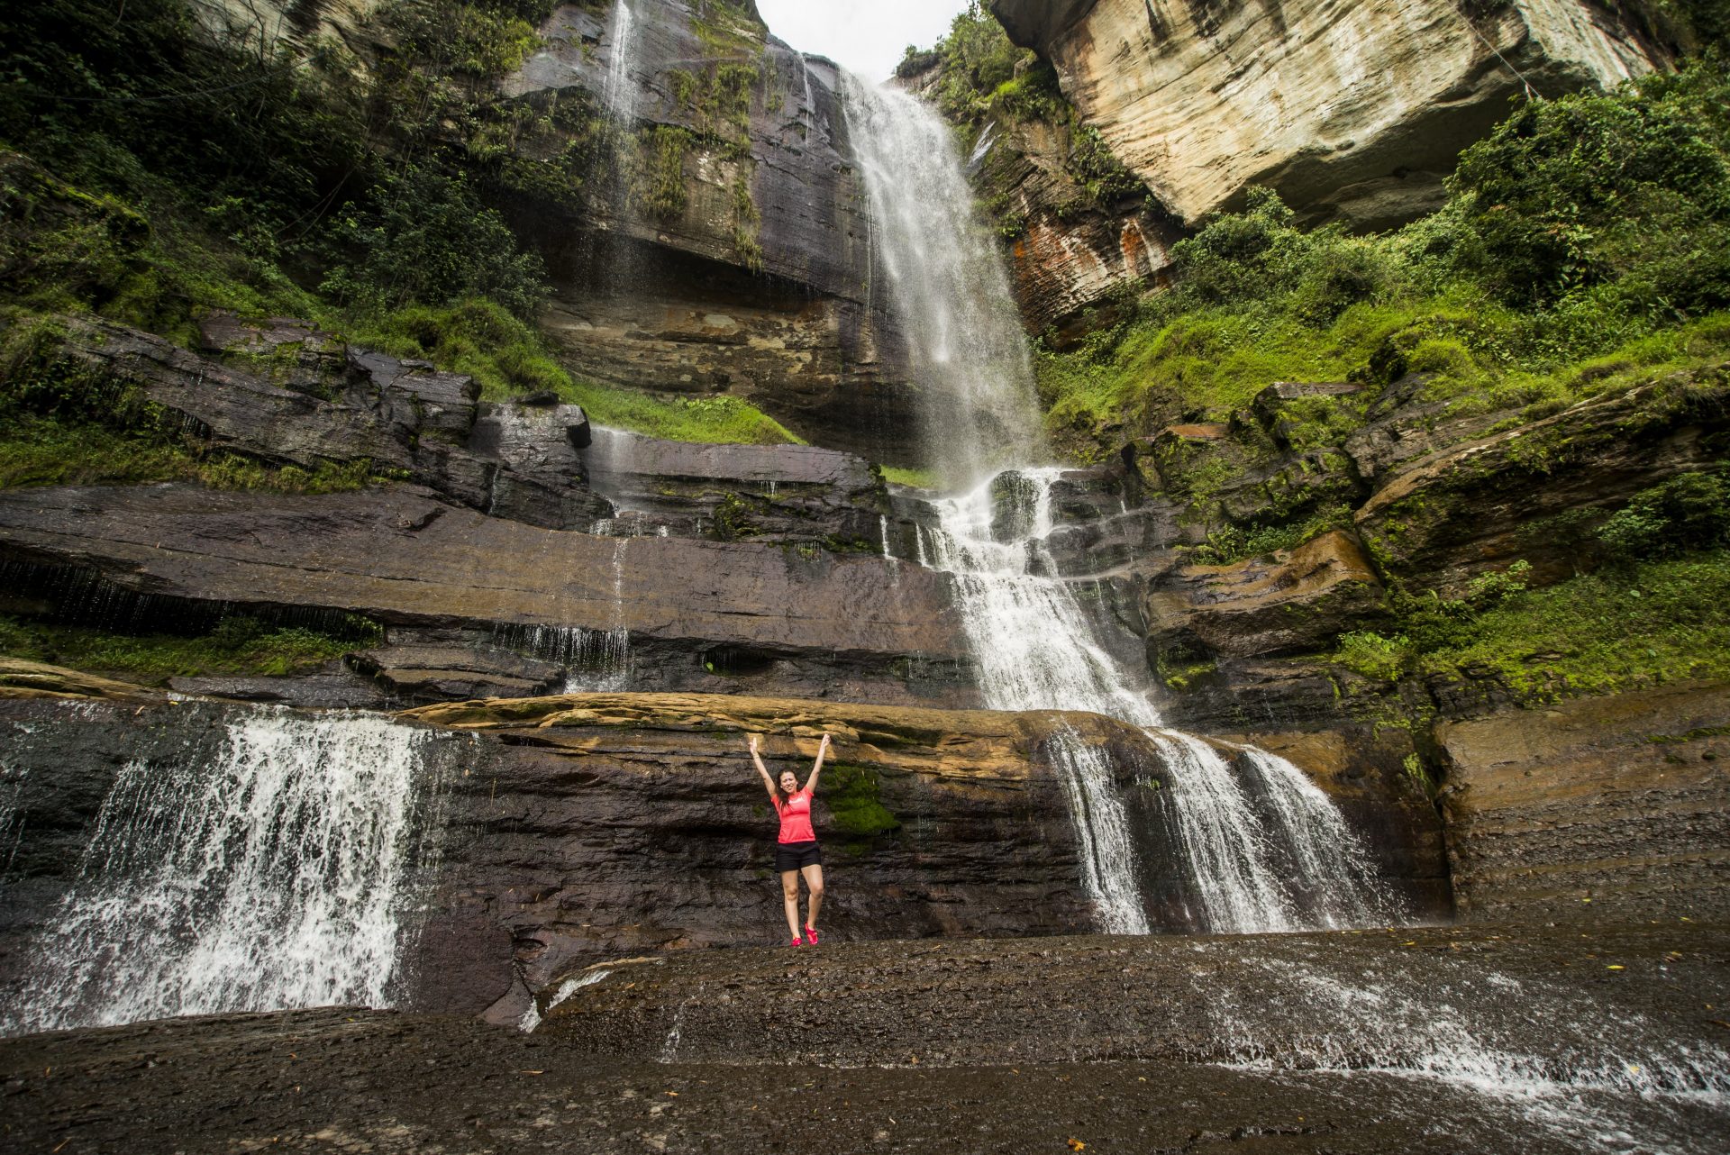
<path fill-rule="evenodd" d="M 637 3 L 623 41 L 609 16 L 559 7 L 502 85 L 533 107 L 606 95 L 621 133 L 619 171 L 580 207 L 517 211 L 552 268 L 545 327 L 567 363 L 616 386 L 740 396 L 822 444 L 903 460 L 912 396 L 870 290 L 839 71 L 749 7 Z"/>

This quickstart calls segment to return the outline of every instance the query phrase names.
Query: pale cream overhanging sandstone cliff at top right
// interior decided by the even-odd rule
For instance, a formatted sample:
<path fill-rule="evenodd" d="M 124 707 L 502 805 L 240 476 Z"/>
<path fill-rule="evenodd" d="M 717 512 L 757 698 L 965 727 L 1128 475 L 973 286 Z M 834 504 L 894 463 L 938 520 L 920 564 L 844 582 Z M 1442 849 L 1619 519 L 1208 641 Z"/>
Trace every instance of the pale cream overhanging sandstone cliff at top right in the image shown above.
<path fill-rule="evenodd" d="M 1663 61 L 1578 0 L 996 0 L 1064 92 L 1185 221 L 1268 185 L 1374 230 L 1439 204 L 1458 152 L 1528 85 L 1612 86 Z"/>

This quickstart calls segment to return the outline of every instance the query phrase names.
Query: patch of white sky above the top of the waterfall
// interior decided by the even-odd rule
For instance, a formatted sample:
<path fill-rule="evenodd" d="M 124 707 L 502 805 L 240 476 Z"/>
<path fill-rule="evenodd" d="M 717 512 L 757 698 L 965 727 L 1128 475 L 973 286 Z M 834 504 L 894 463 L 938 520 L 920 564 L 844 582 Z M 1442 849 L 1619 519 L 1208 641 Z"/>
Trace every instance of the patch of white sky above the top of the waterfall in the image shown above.
<path fill-rule="evenodd" d="M 889 80 L 907 45 L 929 48 L 967 0 L 758 0 L 768 29 L 799 52 Z"/>

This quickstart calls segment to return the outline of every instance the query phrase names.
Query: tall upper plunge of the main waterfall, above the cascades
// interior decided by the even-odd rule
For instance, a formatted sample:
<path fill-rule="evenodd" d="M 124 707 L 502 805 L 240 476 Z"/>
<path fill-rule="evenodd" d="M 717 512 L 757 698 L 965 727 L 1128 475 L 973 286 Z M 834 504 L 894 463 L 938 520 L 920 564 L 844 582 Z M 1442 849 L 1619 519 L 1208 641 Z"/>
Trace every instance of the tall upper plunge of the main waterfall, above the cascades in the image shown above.
<path fill-rule="evenodd" d="M 843 74 L 874 259 L 907 337 L 929 460 L 955 484 L 1041 455 L 1033 365 L 996 240 L 976 216 L 950 126 Z"/>

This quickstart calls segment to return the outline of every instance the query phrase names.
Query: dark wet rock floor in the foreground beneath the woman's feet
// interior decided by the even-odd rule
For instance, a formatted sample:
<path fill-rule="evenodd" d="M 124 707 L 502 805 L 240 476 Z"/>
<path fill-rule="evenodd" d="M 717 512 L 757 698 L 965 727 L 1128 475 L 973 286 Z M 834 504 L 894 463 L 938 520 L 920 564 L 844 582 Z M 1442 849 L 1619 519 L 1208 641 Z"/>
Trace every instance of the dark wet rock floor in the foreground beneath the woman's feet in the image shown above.
<path fill-rule="evenodd" d="M 1640 1101 L 1583 1089 L 1535 1100 L 1512 1086 L 1495 1096 L 1412 1074 L 1303 1070 L 1278 1055 L 1259 1070 L 1173 1058 L 1183 1048 L 1161 1039 L 1182 1036 L 1182 1025 L 1168 1031 L 1168 1017 L 1182 1024 L 1206 1008 L 1171 996 L 1192 982 L 1230 984 L 1223 946 L 1067 939 L 1029 954 L 1010 942 L 882 942 L 647 960 L 578 991 L 529 1036 L 455 1017 L 363 1010 L 35 1036 L 0 1043 L 0 1117 L 21 1150 L 140 1153 L 820 1146 L 1019 1155 L 1085 1143 L 1183 1155 L 1576 1155 L 1593 1150 L 1605 1119 L 1652 1148 L 1709 1152 L 1727 1136 L 1721 1107 L 1685 1096 Z M 1555 984 L 1574 999 L 1713 1046 L 1718 1039 L 1706 1032 L 1721 1031 L 1697 1010 L 1725 992 L 1721 928 L 1412 932 L 1230 946 L 1249 961 L 1265 951 L 1323 960 L 1322 970 L 1327 958 L 1375 968 L 1417 960 L 1432 980 L 1450 965 L 1493 968 L 1509 982 Z M 1607 958 L 1623 960 L 1624 970 L 1605 970 Z M 1126 967 L 1147 980 L 1128 982 Z M 1209 973 L 1197 977 L 1201 970 Z M 699 989 L 704 979 L 730 986 Z M 626 1011 L 633 996 L 635 1010 Z M 1157 1013 L 1107 1024 L 1126 998 Z M 671 1048 L 666 1032 L 644 1031 L 619 1034 L 616 1050 L 597 1055 L 600 1036 L 580 1025 L 647 1027 L 671 1020 L 673 1001 L 685 1006 L 687 1027 Z M 1291 989 L 1258 987 L 1244 1013 L 1277 1022 L 1294 1003 L 1301 998 Z M 727 1022 L 730 1043 L 713 1034 Z M 1035 1043 L 1038 1027 L 1045 1034 Z M 1124 1053 L 1088 1062 L 1100 1027 Z M 1540 1027 L 1531 1027 L 1533 1039 L 1550 1037 Z M 1026 1053 L 984 1067 L 960 1056 L 969 1041 L 995 1031 L 1029 1037 Z M 887 1067 L 855 1062 L 891 1044 L 898 1053 Z M 817 1046 L 839 1060 L 803 1058 Z M 702 1058 L 716 1051 L 723 1056 Z"/>

